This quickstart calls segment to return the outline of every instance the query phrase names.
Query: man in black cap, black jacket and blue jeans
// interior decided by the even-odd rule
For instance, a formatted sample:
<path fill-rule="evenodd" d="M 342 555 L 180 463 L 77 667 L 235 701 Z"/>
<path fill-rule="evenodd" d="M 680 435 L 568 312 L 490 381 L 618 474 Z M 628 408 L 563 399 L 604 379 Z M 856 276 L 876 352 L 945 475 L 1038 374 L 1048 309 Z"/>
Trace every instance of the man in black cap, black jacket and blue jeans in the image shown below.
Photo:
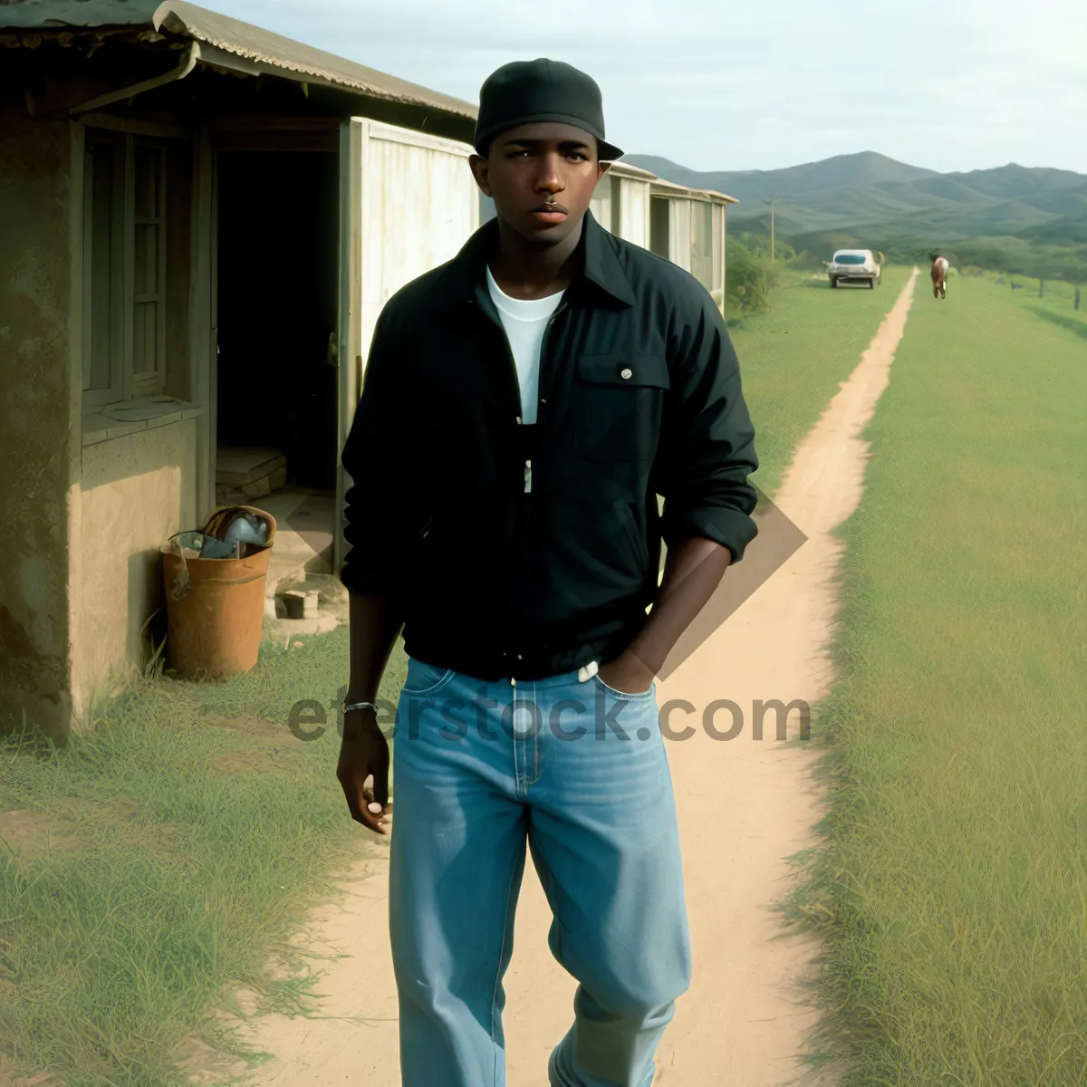
<path fill-rule="evenodd" d="M 402 624 L 403 1084 L 504 1084 L 527 846 L 579 983 L 550 1083 L 647 1087 L 690 972 L 653 677 L 755 535 L 752 427 L 707 291 L 588 213 L 622 154 L 596 83 L 549 60 L 499 68 L 475 149 L 497 217 L 385 305 L 343 450 L 337 775 L 352 816 L 388 833 L 373 703 Z"/>

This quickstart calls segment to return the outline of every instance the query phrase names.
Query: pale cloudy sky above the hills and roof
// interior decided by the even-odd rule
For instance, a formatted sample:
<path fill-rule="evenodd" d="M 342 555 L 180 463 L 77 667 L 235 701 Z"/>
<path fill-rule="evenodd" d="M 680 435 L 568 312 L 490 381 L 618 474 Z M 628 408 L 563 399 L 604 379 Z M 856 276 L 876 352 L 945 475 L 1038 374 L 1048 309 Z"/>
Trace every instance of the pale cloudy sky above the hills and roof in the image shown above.
<path fill-rule="evenodd" d="M 610 140 L 691 170 L 878 151 L 1087 174 L 1087 0 L 197 2 L 473 103 L 507 61 L 566 61 Z"/>

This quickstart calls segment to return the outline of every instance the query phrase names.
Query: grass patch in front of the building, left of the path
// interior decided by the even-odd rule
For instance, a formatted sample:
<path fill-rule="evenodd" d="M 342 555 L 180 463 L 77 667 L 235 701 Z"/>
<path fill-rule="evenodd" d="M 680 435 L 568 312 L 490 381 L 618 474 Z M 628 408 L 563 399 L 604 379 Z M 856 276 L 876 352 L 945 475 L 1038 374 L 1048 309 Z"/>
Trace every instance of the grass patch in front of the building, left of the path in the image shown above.
<path fill-rule="evenodd" d="M 0 1055 L 67 1087 L 173 1087 L 186 1036 L 234 1048 L 208 1016 L 230 986 L 300 1007 L 314 978 L 273 979 L 268 949 L 300 966 L 284 942 L 329 873 L 380 847 L 335 776 L 347 628 L 297 640 L 222 683 L 142 684 L 64 749 L 0 746 L 0 809 L 35 821 L 22 849 L 0 842 Z M 287 726 L 304 699 L 328 716 L 309 742 Z"/>

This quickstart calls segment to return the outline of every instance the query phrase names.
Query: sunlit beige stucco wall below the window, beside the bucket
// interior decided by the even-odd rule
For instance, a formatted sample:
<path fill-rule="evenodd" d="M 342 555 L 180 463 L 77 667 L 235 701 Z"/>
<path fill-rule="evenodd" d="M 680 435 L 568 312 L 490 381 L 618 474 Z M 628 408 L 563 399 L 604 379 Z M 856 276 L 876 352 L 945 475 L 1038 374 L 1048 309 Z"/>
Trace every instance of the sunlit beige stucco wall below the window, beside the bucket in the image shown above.
<path fill-rule="evenodd" d="M 77 714 L 142 663 L 140 627 L 164 602 L 159 548 L 197 528 L 197 420 L 83 450 L 72 632 Z"/>

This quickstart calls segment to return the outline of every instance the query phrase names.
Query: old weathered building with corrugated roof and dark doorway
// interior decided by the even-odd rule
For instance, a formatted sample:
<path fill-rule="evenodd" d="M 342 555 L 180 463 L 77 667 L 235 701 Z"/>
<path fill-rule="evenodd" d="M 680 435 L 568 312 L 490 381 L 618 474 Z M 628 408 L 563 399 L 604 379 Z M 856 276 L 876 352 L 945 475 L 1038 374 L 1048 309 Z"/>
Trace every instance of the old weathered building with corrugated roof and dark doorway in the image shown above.
<path fill-rule="evenodd" d="M 0 5 L 0 732 L 139 666 L 222 502 L 338 569 L 374 322 L 486 214 L 475 114 L 183 0 Z M 716 292 L 727 200 L 619 163 L 594 207 Z"/>

